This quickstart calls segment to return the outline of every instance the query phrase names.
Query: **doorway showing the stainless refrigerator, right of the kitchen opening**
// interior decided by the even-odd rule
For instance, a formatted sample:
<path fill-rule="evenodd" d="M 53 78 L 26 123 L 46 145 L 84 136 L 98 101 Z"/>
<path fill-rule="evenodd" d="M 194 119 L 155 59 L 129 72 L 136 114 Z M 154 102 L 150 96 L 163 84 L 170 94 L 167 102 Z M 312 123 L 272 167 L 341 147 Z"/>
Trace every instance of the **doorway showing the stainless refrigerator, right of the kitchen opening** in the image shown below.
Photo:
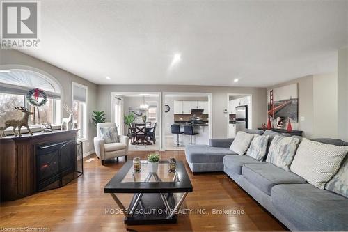
<path fill-rule="evenodd" d="M 234 138 L 239 131 L 253 129 L 252 95 L 228 93 L 228 127 L 229 138 Z"/>

